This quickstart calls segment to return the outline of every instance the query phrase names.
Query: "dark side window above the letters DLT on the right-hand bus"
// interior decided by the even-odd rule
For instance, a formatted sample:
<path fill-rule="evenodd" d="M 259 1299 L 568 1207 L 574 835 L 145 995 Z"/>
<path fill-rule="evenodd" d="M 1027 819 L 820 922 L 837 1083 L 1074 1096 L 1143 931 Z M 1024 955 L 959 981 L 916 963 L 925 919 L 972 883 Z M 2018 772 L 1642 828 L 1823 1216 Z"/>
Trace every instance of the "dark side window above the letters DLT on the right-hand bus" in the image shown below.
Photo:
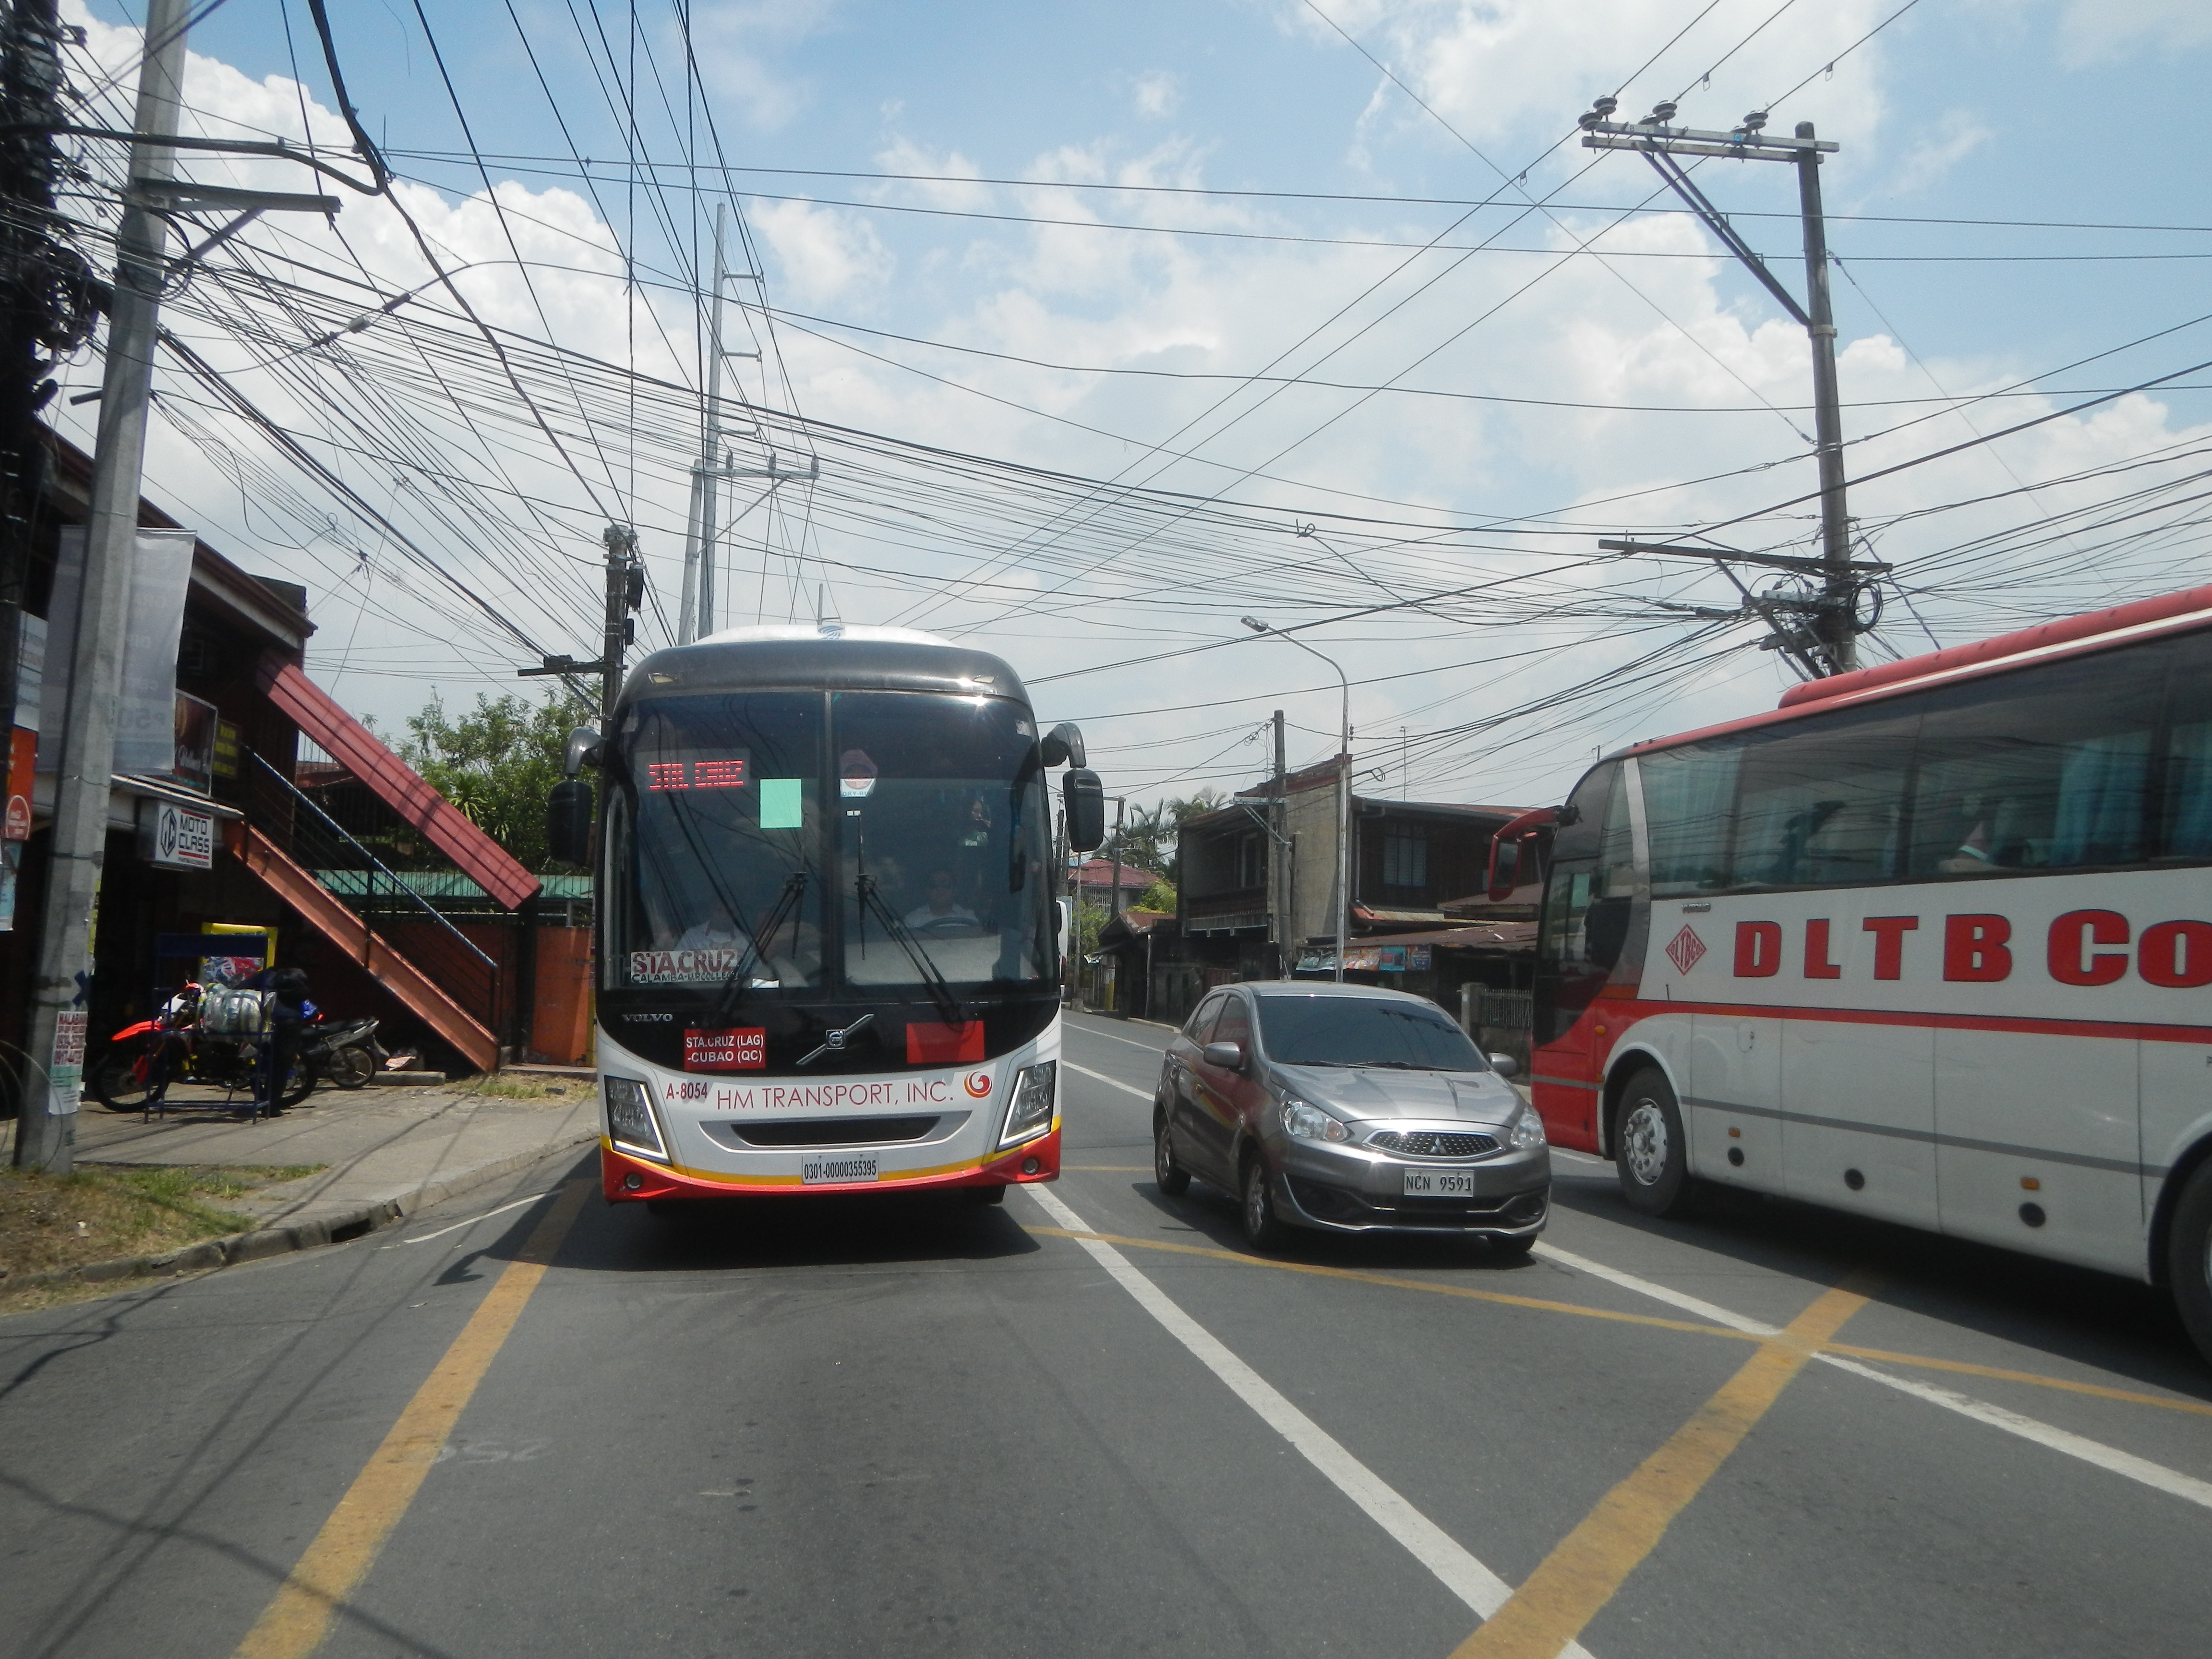
<path fill-rule="evenodd" d="M 1747 743 L 1732 885 L 1891 880 L 1918 721 L 1916 712 L 1854 710 Z"/>

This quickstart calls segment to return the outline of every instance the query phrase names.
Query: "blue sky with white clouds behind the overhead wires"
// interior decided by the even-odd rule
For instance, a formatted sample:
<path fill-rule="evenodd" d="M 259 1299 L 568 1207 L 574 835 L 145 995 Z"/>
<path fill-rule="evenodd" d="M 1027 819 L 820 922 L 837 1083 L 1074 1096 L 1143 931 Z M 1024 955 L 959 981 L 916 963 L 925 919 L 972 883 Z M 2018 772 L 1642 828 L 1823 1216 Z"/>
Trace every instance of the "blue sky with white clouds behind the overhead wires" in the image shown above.
<path fill-rule="evenodd" d="M 739 175 L 743 208 L 765 257 L 765 299 L 830 323 L 781 325 L 776 341 L 787 380 L 759 383 L 754 394 L 841 425 L 1071 473 L 1113 476 L 1137 465 L 1135 476 L 1161 487 L 1201 495 L 1228 489 L 1241 502 L 1281 511 L 1285 524 L 1354 511 L 1354 502 L 1378 498 L 1416 504 L 1460 526 L 1491 520 L 1573 524 L 1573 531 L 1542 531 L 1553 535 L 1544 544 L 1551 549 L 1568 540 L 1582 546 L 1595 533 L 1714 522 L 1781 500 L 1809 480 L 1798 436 L 1809 418 L 1796 409 L 1805 403 L 1807 378 L 1803 334 L 1741 270 L 1714 259 L 1710 239 L 1681 215 L 1630 217 L 1606 230 L 1593 243 L 1606 250 L 1604 261 L 1568 257 L 1566 248 L 1599 232 L 1619 208 L 1650 197 L 1655 181 L 1637 157 L 1610 155 L 1568 184 L 1568 175 L 1593 157 L 1559 139 L 1599 91 L 1619 91 L 1624 115 L 1641 113 L 1655 97 L 1686 93 L 1679 119 L 1728 126 L 1805 77 L 1812 80 L 1803 91 L 1774 106 L 1774 124 L 1816 119 L 1820 133 L 1843 146 L 1825 170 L 1825 188 L 1834 215 L 1829 241 L 1843 261 L 1836 279 L 1843 394 L 1847 403 L 1867 405 L 1847 418 L 1849 431 L 1865 438 L 1851 456 L 1854 471 L 1964 442 L 2064 403 L 1991 398 L 1896 436 L 1874 436 L 1900 418 L 1940 409 L 1907 405 L 1907 398 L 1993 392 L 2212 312 L 2203 299 L 2212 257 L 2208 168 L 2192 146 L 2157 135 L 2170 119 L 2166 111 L 2190 108 L 2190 93 L 2203 80 L 2212 9 L 2185 0 L 1922 0 L 1854 46 L 1898 4 L 1329 0 L 1323 11 L 1343 35 L 1387 64 L 1429 104 L 1427 111 L 1303 0 L 695 4 L 695 49 L 726 157 L 739 168 L 796 170 Z M 460 126 L 414 4 L 380 0 L 334 4 L 332 11 L 365 124 L 394 153 L 403 175 L 440 192 L 422 199 L 442 201 L 451 212 L 451 246 L 473 248 L 467 243 L 469 197 L 480 186 L 462 157 Z M 588 4 L 515 0 L 535 66 L 504 0 L 427 4 L 425 11 L 482 150 L 566 157 L 573 139 L 595 159 L 622 157 L 622 126 L 577 33 L 580 22 L 593 27 Z M 131 13 L 97 4 L 88 15 L 128 22 Z M 672 15 L 668 7 L 639 7 L 639 84 L 653 91 L 653 66 L 659 66 L 661 84 L 681 100 Z M 602 0 L 597 20 L 626 71 L 630 13 Z M 292 0 L 290 24 L 301 88 L 290 86 L 294 60 L 279 0 L 228 0 L 199 27 L 192 44 L 210 73 L 221 66 L 237 77 L 226 82 L 234 88 L 228 102 L 212 95 L 204 102 L 206 119 L 248 126 L 288 119 L 296 131 L 299 117 L 283 111 L 305 97 L 316 111 L 316 131 L 327 131 L 334 100 L 301 0 Z M 1681 40 L 1668 46 L 1677 31 Z M 1655 53 L 1659 62 L 1635 75 Z M 1832 60 L 1834 73 L 1823 73 Z M 1703 84 L 1708 69 L 1712 77 Z M 568 137 L 553 119 L 540 73 L 551 82 Z M 241 111 L 250 104 L 261 113 L 248 119 Z M 650 113 L 644 119 L 646 146 L 670 159 L 677 148 L 666 119 L 655 126 L 657 119 Z M 591 237 L 626 243 L 641 265 L 661 272 L 681 268 L 697 248 L 690 197 L 664 197 L 679 219 L 679 241 L 692 241 L 692 248 L 670 248 L 653 223 L 650 204 L 637 204 L 639 223 L 630 230 L 633 201 L 619 179 L 602 181 L 597 199 L 584 201 L 573 179 L 564 186 L 542 161 L 493 159 L 489 168 L 515 192 L 511 204 L 524 223 L 557 219 L 568 228 L 568 246 Z M 1513 197 L 1502 175 L 1520 168 L 1528 168 L 1528 195 L 1551 197 L 1548 212 L 1528 212 L 1526 197 Z M 807 177 L 805 170 L 874 177 Z M 883 177 L 925 173 L 1179 190 L 1108 195 Z M 1741 228 L 1770 254 L 1783 281 L 1801 290 L 1790 173 L 1714 164 L 1699 179 L 1725 210 L 1741 215 Z M 1230 190 L 1347 199 L 1208 195 Z M 1460 212 L 1416 199 L 1469 201 L 1500 192 L 1506 206 L 1473 215 L 1447 237 L 1451 246 L 1491 239 L 1484 252 L 1413 257 L 1405 274 L 1391 276 L 1409 259 L 1409 243 L 1444 232 Z M 347 223 L 374 223 L 374 210 L 349 212 Z M 973 212 L 1000 217 L 960 217 Z M 476 252 L 489 259 L 495 250 Z M 394 288 L 409 274 L 405 257 L 405 250 L 394 252 L 385 272 Z M 557 252 L 549 257 L 560 259 Z M 498 288 L 507 276 L 484 272 L 482 281 L 487 307 L 522 303 Z M 549 274 L 544 281 L 562 279 Z M 604 276 L 593 281 L 604 288 Z M 1385 283 L 1380 294 L 1360 301 L 1378 281 Z M 624 330 L 608 327 L 622 314 L 619 299 L 608 312 L 604 292 L 591 292 L 599 296 L 577 288 L 573 303 L 538 294 L 535 310 L 515 312 L 511 325 L 619 356 Z M 681 294 L 659 294 L 653 303 L 670 336 L 692 327 L 692 307 Z M 1199 460 L 1161 465 L 1146 458 L 1141 445 L 1164 440 L 1234 383 L 1073 372 L 1241 376 L 1294 347 L 1345 305 L 1354 307 L 1349 319 L 1290 367 L 1338 385 L 1394 383 L 1422 396 L 1396 389 L 1358 400 L 1347 392 L 1294 387 L 1234 422 L 1223 425 L 1223 414 L 1199 425 L 1177 440 L 1188 449 L 1192 438 L 1203 438 Z M 1396 310 L 1385 314 L 1387 305 Z M 894 343 L 885 334 L 938 345 Z M 1006 356 L 1071 367 L 1046 372 Z M 2212 325 L 2024 392 L 2119 387 L 2199 358 L 2212 358 Z M 1469 405 L 1453 400 L 1460 394 L 1601 409 Z M 1245 394 L 1230 411 L 1250 403 L 1256 396 Z M 1668 414 L 1641 411 L 1655 405 Z M 1856 493 L 1854 511 L 1865 513 L 1882 557 L 1931 560 L 1927 580 L 1913 588 L 1913 622 L 1927 626 L 1907 626 L 1905 611 L 1893 606 L 1889 648 L 1924 648 L 1929 637 L 1949 644 L 2035 615 L 2205 580 L 2201 531 L 2185 513 L 2150 542 L 2119 542 L 2110 529 L 2097 529 L 2095 515 L 2064 526 L 2055 542 L 2020 535 L 2048 513 L 2121 489 L 2110 476 L 2059 482 L 2075 473 L 2152 453 L 2172 458 L 2159 462 L 2163 471 L 2141 476 L 2179 480 L 2201 469 L 2188 451 L 2201 447 L 2208 420 L 2212 405 L 2203 392 L 2163 392 Z M 670 445 L 681 449 L 672 431 L 664 447 Z M 659 460 L 666 456 L 653 465 Z M 168 467 L 175 491 L 190 495 L 192 467 L 181 460 Z M 1265 476 L 1241 478 L 1250 467 Z M 1743 467 L 1765 471 L 1674 489 L 1679 480 Z M 608 462 L 608 476 L 615 471 L 619 462 Z M 546 489 L 566 484 L 555 480 Z M 358 586 L 358 571 L 332 560 L 330 549 L 257 549 L 250 513 L 226 507 L 223 491 L 204 495 L 199 511 L 210 531 L 232 538 L 248 564 L 259 553 L 263 568 L 276 562 L 301 571 L 319 586 L 319 615 L 343 615 L 354 604 L 347 584 Z M 1628 500 L 1615 502 L 1621 495 Z M 1971 511 L 1929 511 L 1969 495 L 2004 500 Z M 657 586 L 672 584 L 681 500 L 639 502 L 633 515 L 653 526 L 648 555 Z M 1756 529 L 1765 540 L 1759 544 L 1794 546 L 1792 538 L 1805 533 L 1803 520 L 1803 513 L 1761 520 Z M 1975 538 L 2008 533 L 2015 542 L 1986 555 L 1960 551 Z M 858 566 L 889 553 L 876 549 L 867 560 L 841 562 L 841 535 L 830 518 L 810 515 L 803 526 L 794 518 L 781 529 L 763 520 L 754 551 L 754 568 L 763 575 L 752 588 L 754 602 L 774 611 L 772 593 L 781 591 L 776 617 L 803 611 L 803 591 L 821 577 L 834 586 L 834 604 L 847 619 L 982 628 L 975 637 L 987 637 L 1037 679 L 1148 648 L 1232 637 L 1241 611 L 1270 602 L 1283 606 L 1279 615 L 1303 617 L 1294 606 L 1307 588 L 1325 611 L 1327 604 L 1352 608 L 1360 582 L 1376 595 L 1409 595 L 1425 582 L 1433 591 L 1484 573 L 1506 580 L 1520 568 L 1513 557 L 1537 546 L 1531 542 L 1495 557 L 1473 546 L 1453 549 L 1449 557 L 1433 549 L 1420 557 L 1405 549 L 1360 551 L 1338 560 L 1343 568 L 1321 562 L 1334 584 L 1323 595 L 1314 586 L 1321 582 L 1316 566 L 1298 564 L 1310 549 L 1285 542 L 1281 582 L 1270 584 L 1265 557 L 1245 560 L 1241 584 L 1217 584 L 1212 608 L 1188 593 L 1175 597 L 1172 564 L 1155 564 L 1113 593 L 1097 591 L 1086 608 L 1053 611 L 1057 619 L 1046 624 L 1035 608 L 1002 617 L 1004 606 L 975 606 L 975 595 L 962 591 L 918 608 L 911 593 L 860 575 Z M 1024 564 L 1020 535 L 1009 533 L 1000 544 L 978 535 L 971 553 L 991 560 L 1009 582 L 1051 586 L 1066 580 Z M 812 577 L 792 568 L 792 551 L 805 546 L 821 555 Z M 575 553 L 553 557 L 560 580 L 588 575 Z M 783 568 L 774 575 L 779 557 Z M 1141 557 L 1152 555 L 1128 555 Z M 1203 549 L 1186 557 L 1203 568 Z M 560 568 L 560 560 L 577 568 Z M 1113 571 L 1135 568 L 1128 560 L 1108 560 L 1108 575 L 1084 580 L 1106 582 Z M 945 580 L 969 566 L 940 546 L 929 557 L 916 555 L 914 568 Z M 1938 571 L 1947 575 L 1938 580 Z M 734 573 L 732 586 L 743 586 Z M 1714 577 L 1606 575 L 1599 586 L 1630 608 L 1725 597 Z M 588 586 L 577 588 L 577 602 L 588 606 Z M 1172 615 L 1164 611 L 1170 604 L 1179 606 Z M 1486 630 L 1486 622 L 1495 628 Z M 1471 708 L 1495 701 L 1482 690 L 1482 670 L 1451 666 L 1469 659 L 1471 639 L 1495 661 L 1513 657 L 1515 637 L 1555 641 L 1555 661 L 1491 675 L 1509 677 L 1515 699 L 1579 684 L 1650 644 L 1648 635 L 1615 637 L 1608 633 L 1613 622 L 1584 619 L 1551 635 L 1526 633 L 1528 626 L 1520 613 L 1486 617 L 1447 608 L 1402 615 L 1402 626 L 1345 624 L 1312 637 L 1325 646 L 1334 639 L 1356 679 L 1378 681 L 1356 697 L 1356 723 L 1378 734 L 1398 726 L 1420 734 L 1464 723 Z M 325 639 L 330 633 L 325 622 Z M 361 599 L 347 648 L 321 661 L 325 670 L 343 670 L 352 699 L 387 719 L 418 703 L 427 684 L 447 697 L 507 684 L 509 664 L 469 677 L 449 661 L 440 668 L 440 650 L 451 657 L 451 644 L 440 641 L 436 628 L 425 633 L 422 617 L 407 604 L 385 611 L 383 602 Z M 1484 659 L 1482 653 L 1475 659 Z M 1225 721 L 1248 712 L 1263 717 L 1274 695 L 1292 699 L 1307 757 L 1325 752 L 1334 695 L 1316 688 L 1310 670 L 1296 653 L 1256 644 L 1177 659 L 1172 668 L 1073 679 L 1055 697 L 1075 699 L 1079 708 L 1068 712 L 1113 734 L 1133 792 L 1179 794 L 1252 774 L 1259 752 L 1239 745 Z M 1409 670 L 1420 672 L 1380 679 Z M 1197 726 L 1188 714 L 1135 712 L 1168 701 L 1164 675 L 1190 701 L 1208 695 L 1223 703 L 1232 695 L 1256 701 Z M 1787 677 L 1763 653 L 1717 655 L 1703 666 L 1686 661 L 1681 675 L 1641 701 L 1615 699 L 1599 708 L 1586 699 L 1566 714 L 1544 717 L 1540 728 L 1513 728 L 1511 757 L 1486 752 L 1486 737 L 1438 739 L 1429 759 L 1400 783 L 1447 799 L 1546 799 L 1573 781 L 1575 757 L 1692 717 L 1745 712 L 1772 701 L 1781 684 Z"/>

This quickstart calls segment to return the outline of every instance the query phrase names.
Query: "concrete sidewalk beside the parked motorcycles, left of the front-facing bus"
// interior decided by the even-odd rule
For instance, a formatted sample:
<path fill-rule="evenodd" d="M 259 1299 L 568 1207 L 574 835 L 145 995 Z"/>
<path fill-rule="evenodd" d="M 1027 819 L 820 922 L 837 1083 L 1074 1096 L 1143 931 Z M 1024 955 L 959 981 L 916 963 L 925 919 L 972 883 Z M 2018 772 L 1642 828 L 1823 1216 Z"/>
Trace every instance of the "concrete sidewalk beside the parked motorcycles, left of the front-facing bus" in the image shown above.
<path fill-rule="evenodd" d="M 319 1088 L 307 1104 L 261 1124 L 206 1113 L 139 1121 L 137 1113 L 86 1102 L 77 1115 L 77 1161 L 321 1164 L 316 1175 L 228 1203 L 261 1230 L 292 1234 L 283 1248 L 299 1248 L 369 1232 L 597 1139 L 599 1108 L 588 1082 L 533 1077 L 529 1086 L 544 1097 L 484 1095 L 469 1084 Z"/>

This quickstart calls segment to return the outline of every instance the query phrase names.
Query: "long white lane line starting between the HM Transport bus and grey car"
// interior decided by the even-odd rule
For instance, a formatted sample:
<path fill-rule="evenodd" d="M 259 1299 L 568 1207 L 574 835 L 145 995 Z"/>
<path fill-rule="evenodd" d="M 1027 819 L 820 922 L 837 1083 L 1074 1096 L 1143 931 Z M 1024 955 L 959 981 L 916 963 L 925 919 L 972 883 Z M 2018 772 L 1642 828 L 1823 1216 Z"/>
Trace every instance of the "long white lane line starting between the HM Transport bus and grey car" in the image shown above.
<path fill-rule="evenodd" d="M 1022 1190 L 1044 1206 L 1044 1212 L 1068 1232 L 1091 1232 L 1091 1225 L 1057 1194 L 1042 1186 L 1029 1186 Z M 1119 1250 L 1102 1239 L 1077 1239 L 1075 1243 L 1088 1250 L 1091 1259 L 1097 1261 L 1099 1267 L 1104 1267 L 1113 1281 L 1121 1285 L 1121 1290 L 1135 1296 L 1144 1312 L 1157 1318 L 1177 1343 L 1188 1347 L 1208 1371 L 1221 1378 L 1230 1394 L 1252 1407 L 1252 1411 L 1256 1411 L 1270 1429 L 1290 1440 L 1290 1444 L 1296 1447 L 1296 1451 L 1314 1464 L 1314 1469 L 1327 1475 L 1329 1482 L 1345 1498 L 1358 1504 L 1376 1526 L 1398 1540 L 1398 1544 L 1416 1562 L 1436 1573 L 1438 1582 L 1473 1608 L 1478 1617 L 1489 1619 L 1506 1604 L 1513 1590 L 1502 1577 L 1460 1548 L 1455 1537 L 1413 1509 L 1389 1484 L 1385 1484 L 1380 1475 L 1345 1451 L 1334 1436 L 1285 1400 L 1259 1371 L 1230 1354 L 1230 1349 L 1223 1347 L 1212 1332 L 1177 1307 L 1168 1294 L 1159 1290 L 1159 1285 L 1130 1267 L 1128 1259 Z M 1566 1644 L 1562 1655 L 1588 1659 L 1577 1641 Z"/>

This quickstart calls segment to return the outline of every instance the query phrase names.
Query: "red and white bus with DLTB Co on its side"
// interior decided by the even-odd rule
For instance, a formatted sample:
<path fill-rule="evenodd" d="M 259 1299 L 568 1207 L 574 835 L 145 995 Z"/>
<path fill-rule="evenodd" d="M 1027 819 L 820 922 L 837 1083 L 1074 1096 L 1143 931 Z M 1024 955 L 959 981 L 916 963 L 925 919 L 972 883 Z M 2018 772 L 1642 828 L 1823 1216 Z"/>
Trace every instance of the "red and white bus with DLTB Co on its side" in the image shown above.
<path fill-rule="evenodd" d="M 1542 865 L 1533 1088 L 1699 1181 L 2168 1285 L 2212 1358 L 2212 586 L 1599 761 Z"/>

